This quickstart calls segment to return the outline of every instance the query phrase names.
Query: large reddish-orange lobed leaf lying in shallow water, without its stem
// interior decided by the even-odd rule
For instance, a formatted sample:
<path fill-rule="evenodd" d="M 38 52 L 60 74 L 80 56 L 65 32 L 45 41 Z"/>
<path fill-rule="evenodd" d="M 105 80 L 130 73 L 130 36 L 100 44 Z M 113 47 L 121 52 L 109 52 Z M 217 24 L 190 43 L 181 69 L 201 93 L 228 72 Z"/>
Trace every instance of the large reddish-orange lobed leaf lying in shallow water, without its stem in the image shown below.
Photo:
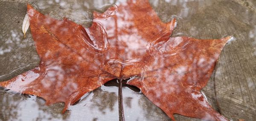
<path fill-rule="evenodd" d="M 90 28 L 56 20 L 28 4 L 30 29 L 41 62 L 0 86 L 64 102 L 64 110 L 111 79 L 127 84 L 173 114 L 227 121 L 200 90 L 207 84 L 222 48 L 231 37 L 170 37 L 176 19 L 163 23 L 145 0 L 128 0 L 94 12 Z"/>

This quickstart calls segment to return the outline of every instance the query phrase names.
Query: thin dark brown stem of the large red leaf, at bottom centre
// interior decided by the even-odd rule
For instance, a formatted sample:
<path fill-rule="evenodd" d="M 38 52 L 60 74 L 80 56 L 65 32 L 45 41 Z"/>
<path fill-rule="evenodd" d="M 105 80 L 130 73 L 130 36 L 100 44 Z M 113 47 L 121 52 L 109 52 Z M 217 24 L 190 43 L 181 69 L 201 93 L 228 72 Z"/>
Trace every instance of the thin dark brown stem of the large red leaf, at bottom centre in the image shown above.
<path fill-rule="evenodd" d="M 118 79 L 118 101 L 119 101 L 119 121 L 125 121 L 123 101 L 122 101 L 122 80 Z"/>

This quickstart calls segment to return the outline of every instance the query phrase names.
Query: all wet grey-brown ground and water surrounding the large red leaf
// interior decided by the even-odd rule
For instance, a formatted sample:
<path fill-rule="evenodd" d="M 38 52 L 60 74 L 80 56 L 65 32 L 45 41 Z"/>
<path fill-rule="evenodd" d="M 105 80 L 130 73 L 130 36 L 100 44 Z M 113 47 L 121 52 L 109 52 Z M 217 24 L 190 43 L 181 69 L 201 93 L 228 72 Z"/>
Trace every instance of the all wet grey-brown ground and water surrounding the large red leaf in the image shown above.
<path fill-rule="evenodd" d="M 3 17 L 1 21 L 4 21 L 1 24 L 1 32 L 3 32 L 3 34 L 1 33 L 1 39 L 3 40 L 1 41 L 3 43 L 1 43 L 1 53 L 3 53 L 1 62 L 3 63 L 1 64 L 3 66 L 1 65 L 1 67 L 4 67 L 4 69 L 0 70 L 1 75 L 3 75 L 0 78 L 3 81 L 34 68 L 38 65 L 39 60 L 30 33 L 28 32 L 28 38 L 24 40 L 22 39 L 23 34 L 20 33 L 21 31 L 17 27 L 20 26 L 21 28 L 23 16 L 26 13 L 26 2 L 11 3 L 1 2 L 1 6 L 4 6 L 4 16 L 1 16 Z M 84 3 L 84 6 L 101 7 L 105 4 L 89 3 Z M 38 6 L 38 9 L 41 9 L 44 14 L 50 13 L 55 18 L 66 16 L 84 26 L 90 26 L 90 23 L 88 23 L 91 18 L 90 14 L 86 14 L 83 17 L 76 17 L 77 14 L 75 14 L 77 11 L 84 11 L 83 14 L 88 13 L 89 10 L 86 8 L 77 7 L 78 10 L 75 11 L 76 9 L 69 7 L 73 5 L 72 3 L 67 4 L 64 1 L 53 2 L 52 8 L 48 4 L 51 4 L 51 2 L 41 3 L 35 1 L 32 3 L 33 6 Z M 252 93 L 255 91 L 254 5 L 253 3 L 239 0 L 233 2 L 151 2 L 151 6 L 154 7 L 154 10 L 157 11 L 163 21 L 169 21 L 173 14 L 178 16 L 178 25 L 174 31 L 176 36 L 179 36 L 178 34 L 181 32 L 183 35 L 187 34 L 198 39 L 221 38 L 223 35 L 236 37 L 236 41 L 230 42 L 224 47 L 216 71 L 208 82 L 207 87 L 204 88 L 204 93 L 206 93 L 212 107 L 220 109 L 219 111 L 222 115 L 234 120 L 247 119 L 250 121 L 254 118 L 255 94 Z M 236 16 L 234 16 L 234 13 L 236 13 Z M 9 41 L 6 42 L 6 40 Z M 214 91 L 214 80 L 216 91 Z M 1 95 L 3 97 L 1 98 L 3 98 L 2 105 L 4 105 L 4 108 L 1 110 L 3 112 L 1 117 L 3 115 L 3 120 L 10 121 L 12 119 L 26 120 L 29 118 L 32 120 L 37 118 L 38 120 L 45 118 L 82 120 L 84 118 L 81 115 L 83 115 L 86 118 L 89 116 L 89 121 L 118 120 L 117 91 L 117 87 L 102 86 L 85 95 L 78 104 L 70 107 L 70 111 L 64 115 L 60 113 L 64 105 L 54 104 L 47 107 L 44 106 L 44 100 L 41 98 L 36 98 L 35 96 L 30 96 L 31 98 L 29 98 L 3 91 L 3 95 Z M 141 93 L 136 93 L 124 87 L 123 96 L 127 121 L 170 120 Z M 216 106 L 215 97 L 217 97 L 219 107 Z M 8 103 L 6 103 L 7 101 Z M 35 114 L 29 116 L 31 112 Z M 188 119 L 184 118 L 176 115 L 178 121 Z"/>

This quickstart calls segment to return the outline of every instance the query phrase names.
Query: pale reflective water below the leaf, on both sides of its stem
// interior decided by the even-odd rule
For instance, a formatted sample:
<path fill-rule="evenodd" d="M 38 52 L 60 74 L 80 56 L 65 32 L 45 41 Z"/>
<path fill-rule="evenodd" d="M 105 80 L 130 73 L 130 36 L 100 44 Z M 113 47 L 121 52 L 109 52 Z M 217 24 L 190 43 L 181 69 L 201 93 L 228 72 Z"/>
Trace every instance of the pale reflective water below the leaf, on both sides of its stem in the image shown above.
<path fill-rule="evenodd" d="M 63 103 L 46 106 L 42 98 L 0 92 L 0 116 L 3 121 L 118 121 L 118 87 L 102 86 L 84 95 L 61 114 Z M 125 119 L 127 121 L 169 121 L 169 117 L 139 92 L 123 87 Z"/>

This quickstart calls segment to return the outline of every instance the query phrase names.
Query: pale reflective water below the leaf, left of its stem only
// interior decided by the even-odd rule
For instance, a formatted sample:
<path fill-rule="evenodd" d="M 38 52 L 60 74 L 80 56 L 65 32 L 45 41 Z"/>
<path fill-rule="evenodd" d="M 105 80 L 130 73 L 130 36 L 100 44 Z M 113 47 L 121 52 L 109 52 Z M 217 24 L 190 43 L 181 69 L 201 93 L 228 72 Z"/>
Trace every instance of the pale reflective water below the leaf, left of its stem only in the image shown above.
<path fill-rule="evenodd" d="M 117 90 L 102 86 L 86 94 L 64 114 L 61 114 L 63 103 L 48 107 L 42 98 L 1 91 L 0 115 L 3 121 L 117 121 Z"/>

